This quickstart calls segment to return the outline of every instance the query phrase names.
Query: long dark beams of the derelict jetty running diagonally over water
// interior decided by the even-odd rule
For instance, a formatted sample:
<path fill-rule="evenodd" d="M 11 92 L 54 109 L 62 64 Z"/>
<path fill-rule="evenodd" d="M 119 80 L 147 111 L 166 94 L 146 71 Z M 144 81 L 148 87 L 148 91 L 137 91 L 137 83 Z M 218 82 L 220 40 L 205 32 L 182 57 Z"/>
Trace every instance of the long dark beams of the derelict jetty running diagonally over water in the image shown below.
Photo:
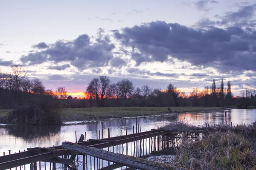
<path fill-rule="evenodd" d="M 154 140 L 156 140 L 157 136 L 166 135 L 168 133 L 169 132 L 167 130 L 150 130 L 129 135 L 109 137 L 105 139 L 88 140 L 84 142 L 78 142 L 77 144 L 79 144 L 80 146 L 88 146 L 102 149 L 107 147 L 114 147 L 120 144 L 126 144 L 129 142 L 141 142 L 142 139 L 152 137 L 154 137 Z M 153 140 L 151 141 L 152 143 L 156 142 Z M 156 145 L 154 147 L 156 147 Z M 70 164 L 73 159 L 68 159 L 67 155 L 75 154 L 81 153 L 73 150 L 67 150 L 61 145 L 47 148 L 29 148 L 28 151 L 25 152 L 0 156 L 0 170 L 6 170 L 12 167 L 19 167 L 25 164 L 34 164 L 34 170 L 36 170 L 36 162 L 38 161 Z M 64 158 L 60 158 L 59 156 L 64 156 Z"/>

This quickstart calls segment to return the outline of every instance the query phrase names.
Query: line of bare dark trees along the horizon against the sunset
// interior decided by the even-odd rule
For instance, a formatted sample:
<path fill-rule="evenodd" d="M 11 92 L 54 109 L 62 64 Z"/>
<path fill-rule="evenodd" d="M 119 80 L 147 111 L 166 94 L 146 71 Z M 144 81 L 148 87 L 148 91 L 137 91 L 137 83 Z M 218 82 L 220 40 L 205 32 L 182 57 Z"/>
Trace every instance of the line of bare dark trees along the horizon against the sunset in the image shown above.
<path fill-rule="evenodd" d="M 186 94 L 170 83 L 166 89 L 151 88 L 149 85 L 135 87 L 129 79 L 122 79 L 112 83 L 108 76 L 93 78 L 86 90 L 83 99 L 67 95 L 65 87 L 56 91 L 46 89 L 40 79 L 29 79 L 28 72 L 22 65 L 11 65 L 11 71 L 0 71 L 0 108 L 15 108 L 17 105 L 31 102 L 35 99 L 55 99 L 66 108 L 85 107 L 157 107 L 157 106 L 237 106 L 247 108 L 256 106 L 256 91 L 245 89 L 240 96 L 233 96 L 231 82 L 220 86 L 215 79 L 212 85 L 204 87 L 201 91 L 193 88 Z"/>

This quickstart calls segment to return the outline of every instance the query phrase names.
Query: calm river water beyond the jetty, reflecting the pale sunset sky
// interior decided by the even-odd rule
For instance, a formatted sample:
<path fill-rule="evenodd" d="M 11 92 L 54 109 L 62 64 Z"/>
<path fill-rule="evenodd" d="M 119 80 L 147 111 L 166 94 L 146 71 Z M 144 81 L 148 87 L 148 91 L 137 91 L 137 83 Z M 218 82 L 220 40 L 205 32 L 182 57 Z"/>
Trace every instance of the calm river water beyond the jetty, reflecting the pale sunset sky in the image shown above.
<path fill-rule="evenodd" d="M 141 117 L 137 119 L 137 123 L 141 127 L 141 131 L 156 129 L 166 125 L 169 121 L 179 120 L 191 125 L 204 125 L 206 122 L 210 124 L 219 124 L 225 122 L 225 111 L 227 111 L 227 121 L 233 125 L 252 123 L 256 120 L 255 109 L 226 109 L 224 111 L 199 112 L 199 113 L 183 113 L 177 118 L 169 116 L 157 117 Z M 96 130 L 103 129 L 103 138 L 108 136 L 108 128 L 110 135 L 119 136 L 122 133 L 133 133 L 135 119 L 110 120 L 105 122 L 91 122 L 79 125 L 61 125 L 61 126 L 6 126 L 0 127 L 0 156 L 23 151 L 29 147 L 49 147 L 52 145 L 61 145 L 61 142 L 76 142 L 77 138 L 86 132 L 86 139 L 96 139 Z"/>

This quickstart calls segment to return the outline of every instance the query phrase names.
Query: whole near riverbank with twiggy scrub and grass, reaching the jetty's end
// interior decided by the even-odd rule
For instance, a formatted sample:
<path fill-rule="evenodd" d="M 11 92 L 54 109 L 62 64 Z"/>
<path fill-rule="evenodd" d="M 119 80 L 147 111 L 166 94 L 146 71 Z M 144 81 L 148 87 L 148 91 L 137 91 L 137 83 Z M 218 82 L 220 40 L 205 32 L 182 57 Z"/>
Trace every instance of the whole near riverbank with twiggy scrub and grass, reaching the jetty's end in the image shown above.
<path fill-rule="evenodd" d="M 163 129 L 182 133 L 182 144 L 175 147 L 176 159 L 170 161 L 173 166 L 197 170 L 255 170 L 256 122 L 236 126 L 210 125 L 208 130 L 171 122 Z M 186 132 L 191 136 L 192 133 L 201 135 L 191 138 Z"/>

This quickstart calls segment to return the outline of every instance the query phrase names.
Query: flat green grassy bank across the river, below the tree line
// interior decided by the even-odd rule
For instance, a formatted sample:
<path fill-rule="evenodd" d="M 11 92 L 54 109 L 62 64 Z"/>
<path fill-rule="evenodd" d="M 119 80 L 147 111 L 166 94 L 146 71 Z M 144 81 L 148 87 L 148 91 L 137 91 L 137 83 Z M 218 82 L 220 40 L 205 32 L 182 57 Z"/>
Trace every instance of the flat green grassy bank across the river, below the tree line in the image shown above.
<path fill-rule="evenodd" d="M 198 112 L 212 111 L 221 109 L 218 107 L 172 107 L 172 111 L 182 112 Z M 7 116 L 11 110 L 0 109 L 0 116 Z M 110 107 L 110 108 L 64 108 L 61 113 L 61 120 L 80 121 L 80 120 L 98 120 L 109 118 L 121 118 L 132 116 L 151 116 L 160 113 L 169 113 L 167 107 Z"/>

